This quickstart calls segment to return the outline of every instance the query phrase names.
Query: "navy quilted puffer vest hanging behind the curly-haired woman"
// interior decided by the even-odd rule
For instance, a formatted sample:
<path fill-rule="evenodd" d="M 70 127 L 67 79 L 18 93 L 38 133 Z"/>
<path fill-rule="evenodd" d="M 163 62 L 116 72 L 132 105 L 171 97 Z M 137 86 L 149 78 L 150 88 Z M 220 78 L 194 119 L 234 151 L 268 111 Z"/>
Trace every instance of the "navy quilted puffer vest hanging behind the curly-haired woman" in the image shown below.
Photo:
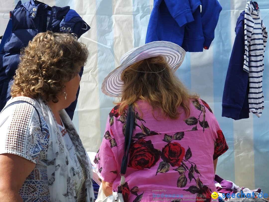
<path fill-rule="evenodd" d="M 80 37 L 90 29 L 90 26 L 75 10 L 70 9 L 70 6 L 50 7 L 42 2 L 30 0 L 22 4 L 20 8 L 10 11 L 10 15 L 12 33 L 0 53 L 0 110 L 10 98 L 9 82 L 15 75 L 19 64 L 20 50 L 26 47 L 37 33 L 50 30 L 75 33 L 77 37 Z M 72 109 L 67 110 L 71 119 L 76 102 L 77 99 L 71 104 Z"/>

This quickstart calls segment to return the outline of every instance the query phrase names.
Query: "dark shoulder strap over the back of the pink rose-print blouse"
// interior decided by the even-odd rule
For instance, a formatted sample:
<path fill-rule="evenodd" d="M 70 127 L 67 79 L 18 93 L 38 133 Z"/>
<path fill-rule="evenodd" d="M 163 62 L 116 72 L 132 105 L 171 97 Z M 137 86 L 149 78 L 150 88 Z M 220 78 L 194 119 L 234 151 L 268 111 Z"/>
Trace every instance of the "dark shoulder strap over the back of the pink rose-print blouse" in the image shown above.
<path fill-rule="evenodd" d="M 127 112 L 127 118 L 126 118 L 124 155 L 123 155 L 122 163 L 121 163 L 121 175 L 125 175 L 125 173 L 126 173 L 133 129 L 134 129 L 134 111 L 133 111 L 133 105 L 129 105 L 128 112 Z"/>

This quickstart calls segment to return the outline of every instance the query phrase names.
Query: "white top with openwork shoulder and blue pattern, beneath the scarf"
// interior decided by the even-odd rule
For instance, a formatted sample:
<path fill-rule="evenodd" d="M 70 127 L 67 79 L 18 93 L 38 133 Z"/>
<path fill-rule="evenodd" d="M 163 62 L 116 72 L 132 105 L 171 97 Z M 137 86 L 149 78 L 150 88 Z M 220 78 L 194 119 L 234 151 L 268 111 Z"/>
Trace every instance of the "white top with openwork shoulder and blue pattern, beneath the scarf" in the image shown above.
<path fill-rule="evenodd" d="M 15 100 L 17 99 L 9 100 L 7 104 Z M 30 98 L 22 100 L 35 104 Z M 37 201 L 49 201 L 46 165 L 53 163 L 53 159 L 47 159 L 51 141 L 47 124 L 41 113 L 40 119 L 42 132 L 37 112 L 28 103 L 9 106 L 2 111 L 0 116 L 0 154 L 16 154 L 37 164 L 20 189 L 23 201 L 32 201 L 37 198 L 40 199 Z"/>

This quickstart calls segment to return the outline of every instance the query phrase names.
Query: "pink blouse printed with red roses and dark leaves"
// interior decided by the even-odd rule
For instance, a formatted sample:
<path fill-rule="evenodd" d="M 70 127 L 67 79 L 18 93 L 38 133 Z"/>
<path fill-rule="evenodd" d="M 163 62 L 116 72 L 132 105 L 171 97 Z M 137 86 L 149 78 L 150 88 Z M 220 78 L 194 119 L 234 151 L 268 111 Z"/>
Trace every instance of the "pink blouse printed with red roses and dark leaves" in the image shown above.
<path fill-rule="evenodd" d="M 190 101 L 190 116 L 182 107 L 176 120 L 152 112 L 144 101 L 135 108 L 135 129 L 122 189 L 124 201 L 210 201 L 216 190 L 213 160 L 228 146 L 206 102 Z M 108 116 L 105 135 L 94 159 L 100 178 L 120 185 L 126 113 L 118 105 Z"/>

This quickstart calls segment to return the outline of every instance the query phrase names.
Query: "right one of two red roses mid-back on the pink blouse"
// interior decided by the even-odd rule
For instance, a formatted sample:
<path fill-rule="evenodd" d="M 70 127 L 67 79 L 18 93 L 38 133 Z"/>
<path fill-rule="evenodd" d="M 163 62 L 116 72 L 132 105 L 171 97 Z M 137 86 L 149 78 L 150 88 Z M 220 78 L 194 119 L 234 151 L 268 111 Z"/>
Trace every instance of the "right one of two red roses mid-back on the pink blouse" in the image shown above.
<path fill-rule="evenodd" d="M 185 149 L 177 142 L 169 142 L 162 148 L 162 159 L 170 163 L 172 167 L 180 166 L 183 157 L 185 156 Z"/>

